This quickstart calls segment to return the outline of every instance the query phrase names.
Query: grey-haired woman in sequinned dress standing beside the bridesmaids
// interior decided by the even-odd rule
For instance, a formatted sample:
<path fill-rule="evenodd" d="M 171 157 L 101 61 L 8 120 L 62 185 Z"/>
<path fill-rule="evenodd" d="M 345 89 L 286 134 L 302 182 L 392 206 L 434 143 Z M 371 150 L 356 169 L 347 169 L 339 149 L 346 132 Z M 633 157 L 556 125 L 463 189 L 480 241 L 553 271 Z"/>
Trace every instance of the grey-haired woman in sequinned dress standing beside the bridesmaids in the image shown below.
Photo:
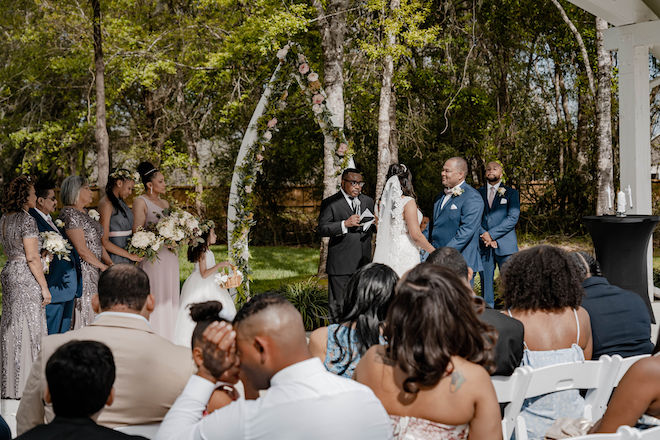
<path fill-rule="evenodd" d="M 59 218 L 64 221 L 64 231 L 81 259 L 83 293 L 76 298 L 72 324 L 73 329 L 78 329 L 94 321 L 92 297 L 98 293 L 99 275 L 113 263 L 103 249 L 103 227 L 85 209 L 92 203 L 87 180 L 80 176 L 67 177 L 62 182 L 60 197 L 64 207 Z"/>

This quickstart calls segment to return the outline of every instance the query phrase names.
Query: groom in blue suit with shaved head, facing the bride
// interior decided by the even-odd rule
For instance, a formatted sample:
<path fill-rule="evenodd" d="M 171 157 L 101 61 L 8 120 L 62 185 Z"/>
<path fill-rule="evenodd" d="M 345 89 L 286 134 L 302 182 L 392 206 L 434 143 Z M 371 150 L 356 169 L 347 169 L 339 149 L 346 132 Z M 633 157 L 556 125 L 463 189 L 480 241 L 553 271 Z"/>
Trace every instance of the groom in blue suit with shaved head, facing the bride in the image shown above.
<path fill-rule="evenodd" d="M 433 217 L 426 238 L 434 248 L 458 250 L 473 272 L 482 270 L 479 254 L 479 226 L 484 203 L 479 192 L 465 182 L 467 162 L 462 157 L 448 159 L 442 167 L 445 187 L 433 203 Z"/>

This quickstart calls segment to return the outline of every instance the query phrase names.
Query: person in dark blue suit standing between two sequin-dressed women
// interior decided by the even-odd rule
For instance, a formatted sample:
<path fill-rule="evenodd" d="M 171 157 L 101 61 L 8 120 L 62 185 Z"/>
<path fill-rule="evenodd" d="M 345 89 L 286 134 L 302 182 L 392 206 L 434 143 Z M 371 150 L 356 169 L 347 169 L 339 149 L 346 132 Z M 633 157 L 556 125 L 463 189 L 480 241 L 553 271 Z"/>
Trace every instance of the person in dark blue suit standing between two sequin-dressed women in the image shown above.
<path fill-rule="evenodd" d="M 37 221 L 39 232 L 57 232 L 67 240 L 66 235 L 55 225 L 50 216 L 57 206 L 54 185 L 39 182 L 35 191 L 36 208 L 30 208 L 29 212 Z M 52 295 L 50 304 L 46 306 L 46 325 L 49 335 L 64 333 L 71 328 L 73 300 L 82 295 L 80 258 L 75 249 L 71 249 L 69 258 L 71 261 L 53 257 L 46 274 L 48 290 Z"/>

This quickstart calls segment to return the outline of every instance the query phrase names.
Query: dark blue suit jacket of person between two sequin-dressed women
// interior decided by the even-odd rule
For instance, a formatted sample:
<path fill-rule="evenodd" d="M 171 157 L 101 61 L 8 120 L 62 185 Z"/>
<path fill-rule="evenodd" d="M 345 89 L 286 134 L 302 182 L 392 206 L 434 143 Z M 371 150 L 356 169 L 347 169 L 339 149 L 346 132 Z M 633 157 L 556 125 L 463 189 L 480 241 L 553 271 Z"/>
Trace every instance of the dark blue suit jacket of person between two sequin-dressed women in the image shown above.
<path fill-rule="evenodd" d="M 39 232 L 53 231 L 67 239 L 63 231 L 53 229 L 34 208 L 30 208 L 29 212 L 37 221 Z M 46 274 L 46 281 L 48 282 L 48 290 L 50 290 L 52 296 L 52 303 L 71 301 L 73 298 L 80 298 L 82 295 L 82 272 L 78 252 L 75 249 L 71 249 L 69 258 L 71 261 L 61 260 L 55 257 L 50 262 L 50 270 Z"/>

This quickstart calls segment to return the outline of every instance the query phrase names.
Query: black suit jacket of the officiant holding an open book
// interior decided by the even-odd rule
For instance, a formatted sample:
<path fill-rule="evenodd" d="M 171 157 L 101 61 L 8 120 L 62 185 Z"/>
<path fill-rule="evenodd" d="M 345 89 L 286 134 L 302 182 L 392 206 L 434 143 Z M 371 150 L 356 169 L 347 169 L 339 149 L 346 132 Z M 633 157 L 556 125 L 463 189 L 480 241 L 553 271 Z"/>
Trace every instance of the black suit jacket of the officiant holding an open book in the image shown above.
<path fill-rule="evenodd" d="M 374 212 L 374 199 L 364 194 L 358 196 L 360 209 Z M 363 231 L 362 226 L 348 228 L 342 234 L 341 222 L 353 215 L 352 208 L 346 202 L 341 191 L 321 202 L 319 214 L 319 234 L 330 237 L 326 272 L 331 275 L 350 275 L 359 267 L 371 262 L 371 236 L 375 227 L 372 225 Z"/>

